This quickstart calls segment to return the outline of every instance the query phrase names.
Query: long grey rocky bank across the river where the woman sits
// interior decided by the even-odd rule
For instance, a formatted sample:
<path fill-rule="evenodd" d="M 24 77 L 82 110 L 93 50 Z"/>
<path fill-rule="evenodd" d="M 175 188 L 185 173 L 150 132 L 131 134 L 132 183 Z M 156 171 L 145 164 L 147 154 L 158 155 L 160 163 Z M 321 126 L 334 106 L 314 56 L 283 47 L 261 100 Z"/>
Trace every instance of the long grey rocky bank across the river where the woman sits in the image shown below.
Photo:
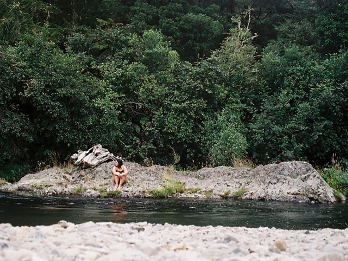
<path fill-rule="evenodd" d="M 306 162 L 292 161 L 255 169 L 215 167 L 196 172 L 173 167 L 143 167 L 125 162 L 129 182 L 113 191 L 112 162 L 95 168 L 50 168 L 28 174 L 15 184 L 0 184 L 1 192 L 30 195 L 85 197 L 194 197 L 242 198 L 296 202 L 334 203 L 344 199 L 333 192 Z"/>

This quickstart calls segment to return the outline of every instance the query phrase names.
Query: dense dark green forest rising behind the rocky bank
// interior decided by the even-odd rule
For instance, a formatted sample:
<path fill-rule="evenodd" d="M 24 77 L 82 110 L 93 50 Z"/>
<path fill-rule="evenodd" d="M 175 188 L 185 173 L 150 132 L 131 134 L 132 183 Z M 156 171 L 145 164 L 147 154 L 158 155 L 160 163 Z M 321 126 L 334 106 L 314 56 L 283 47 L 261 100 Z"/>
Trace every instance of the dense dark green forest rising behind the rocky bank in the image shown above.
<path fill-rule="evenodd" d="M 0 177 L 102 144 L 348 174 L 348 1 L 1 0 Z"/>

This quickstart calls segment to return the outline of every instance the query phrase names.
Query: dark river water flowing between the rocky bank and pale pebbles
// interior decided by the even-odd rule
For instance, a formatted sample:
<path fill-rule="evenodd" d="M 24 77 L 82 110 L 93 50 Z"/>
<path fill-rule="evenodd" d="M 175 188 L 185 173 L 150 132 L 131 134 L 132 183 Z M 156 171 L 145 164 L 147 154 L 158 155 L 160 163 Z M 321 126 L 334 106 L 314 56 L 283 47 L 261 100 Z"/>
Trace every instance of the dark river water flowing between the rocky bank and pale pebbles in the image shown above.
<path fill-rule="evenodd" d="M 86 199 L 0 193 L 0 223 L 51 225 L 60 220 L 165 222 L 197 226 L 320 229 L 348 227 L 348 203 L 310 204 L 224 199 Z"/>

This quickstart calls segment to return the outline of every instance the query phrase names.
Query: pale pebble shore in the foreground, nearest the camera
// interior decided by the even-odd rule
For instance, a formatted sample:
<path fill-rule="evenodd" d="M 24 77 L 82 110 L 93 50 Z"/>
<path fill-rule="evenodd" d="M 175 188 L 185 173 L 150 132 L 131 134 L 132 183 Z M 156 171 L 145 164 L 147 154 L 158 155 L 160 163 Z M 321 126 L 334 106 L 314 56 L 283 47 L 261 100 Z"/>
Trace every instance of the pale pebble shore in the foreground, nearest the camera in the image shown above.
<path fill-rule="evenodd" d="M 348 228 L 197 227 L 147 222 L 0 224 L 0 261 L 348 260 Z"/>

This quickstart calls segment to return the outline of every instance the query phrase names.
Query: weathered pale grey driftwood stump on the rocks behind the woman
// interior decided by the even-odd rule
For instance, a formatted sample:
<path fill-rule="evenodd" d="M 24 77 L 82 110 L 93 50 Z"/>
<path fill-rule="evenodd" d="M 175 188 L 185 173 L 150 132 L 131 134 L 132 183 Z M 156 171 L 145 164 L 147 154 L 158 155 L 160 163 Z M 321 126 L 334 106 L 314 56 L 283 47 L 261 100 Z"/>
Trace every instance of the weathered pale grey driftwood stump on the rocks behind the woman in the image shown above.
<path fill-rule="evenodd" d="M 70 158 L 75 161 L 75 165 L 81 168 L 95 168 L 106 161 L 116 160 L 116 156 L 100 144 L 91 147 L 87 151 L 79 150 L 78 153 L 75 153 Z"/>

